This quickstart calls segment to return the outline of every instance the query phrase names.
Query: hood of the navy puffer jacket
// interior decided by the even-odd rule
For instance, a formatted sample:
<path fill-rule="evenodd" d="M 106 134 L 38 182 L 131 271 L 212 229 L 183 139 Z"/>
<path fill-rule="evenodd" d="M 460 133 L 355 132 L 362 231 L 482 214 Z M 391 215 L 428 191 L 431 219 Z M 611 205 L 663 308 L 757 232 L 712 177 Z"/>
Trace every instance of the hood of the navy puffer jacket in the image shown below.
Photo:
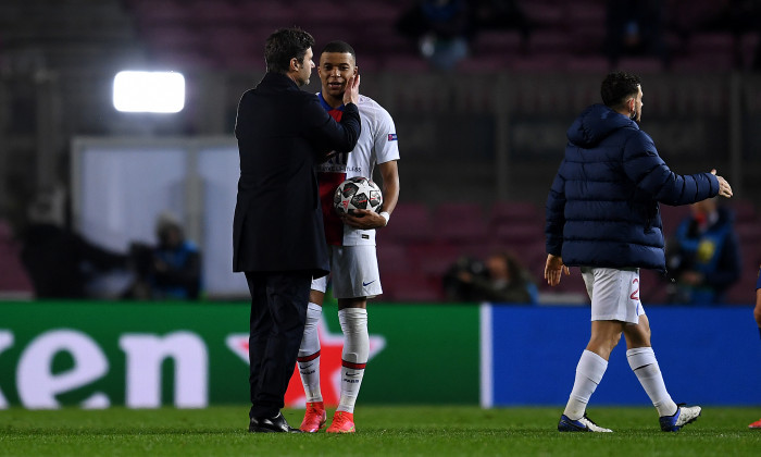
<path fill-rule="evenodd" d="M 578 115 L 566 133 L 569 141 L 583 148 L 598 145 L 619 128 L 639 129 L 633 120 L 604 104 L 592 104 Z"/>

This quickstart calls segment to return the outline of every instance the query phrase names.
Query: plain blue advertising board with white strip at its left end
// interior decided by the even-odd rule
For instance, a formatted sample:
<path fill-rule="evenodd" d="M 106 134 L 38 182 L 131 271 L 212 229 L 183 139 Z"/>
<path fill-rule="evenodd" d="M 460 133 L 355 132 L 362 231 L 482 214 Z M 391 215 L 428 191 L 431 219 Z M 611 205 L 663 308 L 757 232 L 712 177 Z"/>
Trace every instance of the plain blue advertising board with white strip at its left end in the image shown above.
<path fill-rule="evenodd" d="M 752 308 L 646 308 L 652 346 L 677 403 L 761 405 L 761 342 Z M 485 407 L 564 405 L 590 332 L 588 307 L 482 306 Z M 622 337 L 591 405 L 650 405 Z"/>

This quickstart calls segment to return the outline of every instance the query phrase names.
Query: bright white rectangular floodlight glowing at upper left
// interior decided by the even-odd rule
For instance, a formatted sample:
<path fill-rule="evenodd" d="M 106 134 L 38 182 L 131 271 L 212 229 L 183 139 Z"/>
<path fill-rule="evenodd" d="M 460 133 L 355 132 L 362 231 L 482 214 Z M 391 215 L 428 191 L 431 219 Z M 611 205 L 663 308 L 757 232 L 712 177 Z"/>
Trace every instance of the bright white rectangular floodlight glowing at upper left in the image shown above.
<path fill-rule="evenodd" d="M 177 113 L 185 107 L 185 76 L 176 72 L 118 72 L 113 102 L 123 112 Z"/>

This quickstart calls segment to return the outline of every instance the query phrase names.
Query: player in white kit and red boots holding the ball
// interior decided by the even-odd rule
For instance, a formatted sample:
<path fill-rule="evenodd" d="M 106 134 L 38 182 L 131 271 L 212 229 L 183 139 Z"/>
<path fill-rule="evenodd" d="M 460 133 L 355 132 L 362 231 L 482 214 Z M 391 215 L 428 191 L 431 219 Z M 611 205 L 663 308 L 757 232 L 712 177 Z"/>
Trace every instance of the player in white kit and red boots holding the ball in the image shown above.
<path fill-rule="evenodd" d="M 320 55 L 322 81 L 320 102 L 336 120 L 344 111 L 347 82 L 358 74 L 357 54 L 344 41 L 328 42 Z M 333 295 L 338 299 L 338 320 L 344 332 L 340 400 L 328 433 L 354 432 L 354 403 L 362 384 L 370 351 L 367 299 L 383 293 L 375 254 L 375 230 L 386 226 L 399 198 L 399 147 L 394 120 L 373 99 L 360 96 L 362 133 L 351 153 L 338 153 L 319 165 L 320 195 L 325 237 L 329 246 Z M 333 193 L 353 176 L 372 178 L 378 165 L 383 177 L 383 211 L 358 210 L 339 218 L 333 208 Z M 327 277 L 312 281 L 307 326 L 299 349 L 298 366 L 307 395 L 301 430 L 316 432 L 327 415 L 320 388 L 320 338 L 317 322 L 327 288 Z"/>

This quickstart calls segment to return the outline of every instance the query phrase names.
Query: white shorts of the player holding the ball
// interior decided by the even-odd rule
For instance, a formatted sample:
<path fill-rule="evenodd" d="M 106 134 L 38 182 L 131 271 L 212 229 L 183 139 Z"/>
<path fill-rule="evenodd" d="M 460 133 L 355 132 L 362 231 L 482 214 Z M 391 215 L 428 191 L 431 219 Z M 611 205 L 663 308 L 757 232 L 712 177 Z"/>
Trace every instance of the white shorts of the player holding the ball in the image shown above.
<path fill-rule="evenodd" d="M 375 246 L 328 246 L 335 298 L 373 298 L 383 294 Z M 328 276 L 312 280 L 312 289 L 325 293 Z"/>

